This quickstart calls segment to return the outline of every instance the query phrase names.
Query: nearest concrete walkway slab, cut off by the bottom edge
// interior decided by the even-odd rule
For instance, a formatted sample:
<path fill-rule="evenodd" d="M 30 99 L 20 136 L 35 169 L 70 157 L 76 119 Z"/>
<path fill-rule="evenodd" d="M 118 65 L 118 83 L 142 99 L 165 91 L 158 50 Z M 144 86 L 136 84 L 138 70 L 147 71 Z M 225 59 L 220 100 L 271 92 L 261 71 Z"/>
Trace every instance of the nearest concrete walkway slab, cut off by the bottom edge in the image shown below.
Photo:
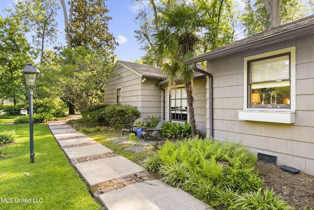
<path fill-rule="evenodd" d="M 160 180 L 138 182 L 99 196 L 107 210 L 206 210 L 208 205 Z"/>

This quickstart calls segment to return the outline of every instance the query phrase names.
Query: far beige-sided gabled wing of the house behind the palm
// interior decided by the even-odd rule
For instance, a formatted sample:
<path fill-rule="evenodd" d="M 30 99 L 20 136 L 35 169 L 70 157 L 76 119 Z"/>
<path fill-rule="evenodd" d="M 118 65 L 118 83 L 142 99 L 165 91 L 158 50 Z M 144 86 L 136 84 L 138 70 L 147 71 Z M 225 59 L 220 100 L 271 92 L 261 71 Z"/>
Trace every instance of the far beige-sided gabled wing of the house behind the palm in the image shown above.
<path fill-rule="evenodd" d="M 206 76 L 198 74 L 194 81 L 194 115 L 197 129 L 206 132 Z M 114 74 L 105 85 L 105 104 L 130 104 L 140 117 L 185 122 L 188 107 L 184 84 L 177 81 L 169 92 L 168 81 L 161 68 L 146 64 L 117 61 Z"/>

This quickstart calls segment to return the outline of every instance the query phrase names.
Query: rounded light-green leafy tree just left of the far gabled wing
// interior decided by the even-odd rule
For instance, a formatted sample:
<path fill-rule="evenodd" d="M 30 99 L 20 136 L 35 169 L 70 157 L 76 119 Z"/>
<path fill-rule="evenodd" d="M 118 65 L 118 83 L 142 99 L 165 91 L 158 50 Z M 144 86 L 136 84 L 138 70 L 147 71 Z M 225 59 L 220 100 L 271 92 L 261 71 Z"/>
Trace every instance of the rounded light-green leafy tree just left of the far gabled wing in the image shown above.
<path fill-rule="evenodd" d="M 103 86 L 111 74 L 111 62 L 80 46 L 67 47 L 59 54 L 47 53 L 50 59 L 41 66 L 45 94 L 59 96 L 79 111 L 104 101 Z"/>

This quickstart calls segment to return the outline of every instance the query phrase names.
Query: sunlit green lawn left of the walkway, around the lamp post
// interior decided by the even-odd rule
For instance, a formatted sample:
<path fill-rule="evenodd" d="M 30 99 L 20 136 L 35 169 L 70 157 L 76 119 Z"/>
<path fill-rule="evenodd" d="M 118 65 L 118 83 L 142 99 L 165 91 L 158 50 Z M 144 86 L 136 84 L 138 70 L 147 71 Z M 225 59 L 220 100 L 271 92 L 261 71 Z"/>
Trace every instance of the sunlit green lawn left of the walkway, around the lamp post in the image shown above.
<path fill-rule="evenodd" d="M 0 209 L 100 210 L 49 128 L 34 125 L 35 162 L 30 164 L 29 126 L 4 125 L 12 121 L 0 119 L 0 132 L 15 130 L 18 136 L 0 148 Z"/>

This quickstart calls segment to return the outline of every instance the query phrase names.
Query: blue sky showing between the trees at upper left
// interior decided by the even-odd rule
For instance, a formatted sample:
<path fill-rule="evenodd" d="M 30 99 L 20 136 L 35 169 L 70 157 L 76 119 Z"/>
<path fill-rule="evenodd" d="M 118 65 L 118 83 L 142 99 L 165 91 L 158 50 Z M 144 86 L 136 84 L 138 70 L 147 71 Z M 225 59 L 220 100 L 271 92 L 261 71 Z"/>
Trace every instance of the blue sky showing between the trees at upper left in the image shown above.
<path fill-rule="evenodd" d="M 2 17 L 6 16 L 6 13 L 2 10 L 14 9 L 13 2 L 17 2 L 17 0 L 3 1 L 1 1 L 0 4 L 0 14 Z M 58 0 L 58 2 L 60 1 Z M 112 17 L 112 20 L 108 23 L 109 32 L 113 33 L 116 41 L 119 42 L 119 46 L 117 46 L 115 50 L 117 59 L 124 61 L 140 59 L 145 53 L 139 49 L 139 45 L 134 37 L 134 30 L 139 28 L 134 22 L 137 15 L 137 6 L 132 5 L 132 0 L 107 0 L 105 4 L 109 9 L 107 15 Z M 64 20 L 61 9 L 56 19 L 58 29 L 62 31 L 62 33 L 58 35 L 58 42 L 65 45 Z"/>

